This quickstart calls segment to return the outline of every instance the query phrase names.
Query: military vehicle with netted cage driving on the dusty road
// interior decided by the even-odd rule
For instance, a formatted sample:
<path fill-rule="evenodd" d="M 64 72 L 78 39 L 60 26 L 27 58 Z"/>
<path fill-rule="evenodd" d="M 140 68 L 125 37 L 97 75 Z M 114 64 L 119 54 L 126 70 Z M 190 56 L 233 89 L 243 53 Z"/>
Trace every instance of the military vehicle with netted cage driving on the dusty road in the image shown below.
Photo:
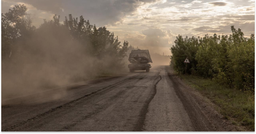
<path fill-rule="evenodd" d="M 128 65 L 130 72 L 134 72 L 135 70 L 146 70 L 146 72 L 149 72 L 151 65 L 148 63 L 153 63 L 149 50 L 131 50 L 128 60 L 131 63 Z"/>

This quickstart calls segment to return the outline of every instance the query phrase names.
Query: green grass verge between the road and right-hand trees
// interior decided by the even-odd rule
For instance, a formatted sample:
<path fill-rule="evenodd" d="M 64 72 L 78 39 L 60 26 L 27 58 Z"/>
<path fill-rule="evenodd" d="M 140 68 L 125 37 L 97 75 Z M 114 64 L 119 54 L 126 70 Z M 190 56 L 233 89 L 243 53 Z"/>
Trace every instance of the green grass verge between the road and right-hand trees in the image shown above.
<path fill-rule="evenodd" d="M 232 124 L 255 130 L 255 95 L 230 89 L 211 79 L 194 75 L 178 74 L 185 83 L 197 89 L 204 96 L 217 104 L 217 109 Z"/>

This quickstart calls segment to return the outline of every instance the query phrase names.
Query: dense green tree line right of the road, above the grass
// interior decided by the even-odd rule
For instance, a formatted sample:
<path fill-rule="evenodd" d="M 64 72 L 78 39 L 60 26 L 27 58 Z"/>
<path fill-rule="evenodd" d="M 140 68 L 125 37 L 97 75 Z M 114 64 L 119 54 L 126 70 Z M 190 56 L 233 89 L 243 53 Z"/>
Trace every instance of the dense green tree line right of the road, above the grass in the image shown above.
<path fill-rule="evenodd" d="M 170 65 L 185 74 L 199 75 L 243 91 L 255 91 L 255 36 L 245 38 L 241 29 L 231 26 L 231 35 L 183 38 L 177 36 L 171 47 Z"/>

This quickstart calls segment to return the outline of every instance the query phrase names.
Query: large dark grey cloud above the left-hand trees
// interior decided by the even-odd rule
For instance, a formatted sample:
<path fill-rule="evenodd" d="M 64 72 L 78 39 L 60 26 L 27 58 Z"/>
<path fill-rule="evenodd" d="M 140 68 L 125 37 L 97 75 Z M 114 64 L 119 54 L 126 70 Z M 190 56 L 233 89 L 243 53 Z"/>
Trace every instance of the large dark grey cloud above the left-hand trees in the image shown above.
<path fill-rule="evenodd" d="M 122 23 L 126 16 L 132 15 L 140 6 L 164 3 L 166 0 L 10 0 L 32 5 L 37 10 L 51 12 L 61 16 L 61 21 L 68 14 L 73 17 L 83 16 L 97 26 Z"/>

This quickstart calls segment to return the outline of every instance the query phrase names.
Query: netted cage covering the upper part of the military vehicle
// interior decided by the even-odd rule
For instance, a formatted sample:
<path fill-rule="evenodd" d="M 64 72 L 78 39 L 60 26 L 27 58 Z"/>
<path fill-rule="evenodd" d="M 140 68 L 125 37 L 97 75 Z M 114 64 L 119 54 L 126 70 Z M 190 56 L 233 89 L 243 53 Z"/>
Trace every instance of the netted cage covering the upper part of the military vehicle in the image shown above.
<path fill-rule="evenodd" d="M 145 64 L 145 63 L 153 63 L 149 54 L 149 50 L 132 50 L 129 55 L 130 63 L 138 63 L 138 64 Z"/>

